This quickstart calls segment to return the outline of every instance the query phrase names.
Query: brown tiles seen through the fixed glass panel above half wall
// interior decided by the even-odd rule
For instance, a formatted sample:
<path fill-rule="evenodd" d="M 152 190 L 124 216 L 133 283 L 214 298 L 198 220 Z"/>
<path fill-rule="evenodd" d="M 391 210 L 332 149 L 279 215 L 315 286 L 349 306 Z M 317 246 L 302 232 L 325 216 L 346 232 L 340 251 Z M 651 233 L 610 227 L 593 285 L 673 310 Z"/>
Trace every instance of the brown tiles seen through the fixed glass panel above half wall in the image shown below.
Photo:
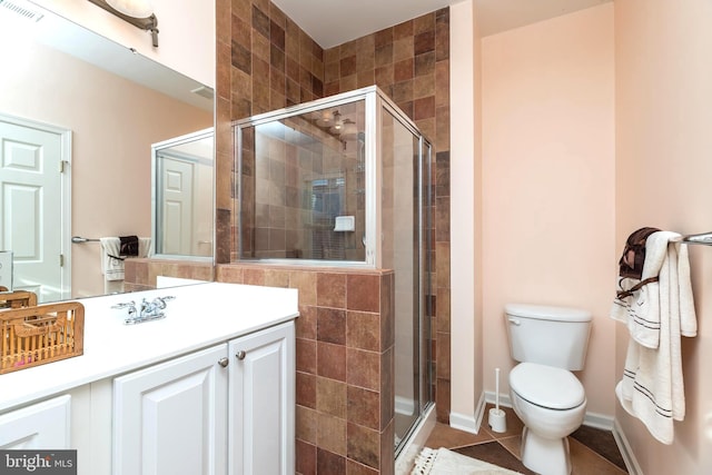
<path fill-rule="evenodd" d="M 357 117 L 363 108 L 362 100 L 338 110 Z M 310 113 L 284 122 L 286 128 L 241 129 L 241 194 L 248 204 L 240 215 L 241 258 L 365 260 L 356 238 L 365 222 L 356 137 L 335 138 Z M 314 194 L 318 204 L 305 198 Z M 334 230 L 336 212 L 356 217 L 355 232 Z"/>

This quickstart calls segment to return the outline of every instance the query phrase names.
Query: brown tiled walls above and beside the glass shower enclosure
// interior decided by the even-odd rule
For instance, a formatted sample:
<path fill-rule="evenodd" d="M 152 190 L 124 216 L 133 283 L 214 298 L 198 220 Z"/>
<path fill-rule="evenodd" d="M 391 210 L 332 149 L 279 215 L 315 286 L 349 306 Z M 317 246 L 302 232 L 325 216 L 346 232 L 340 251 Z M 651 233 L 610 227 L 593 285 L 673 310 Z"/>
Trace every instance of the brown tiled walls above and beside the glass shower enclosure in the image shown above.
<path fill-rule="evenodd" d="M 269 0 L 217 2 L 217 251 L 237 261 L 230 121 L 377 85 L 433 140 L 433 349 L 449 418 L 449 9 L 323 50 Z"/>

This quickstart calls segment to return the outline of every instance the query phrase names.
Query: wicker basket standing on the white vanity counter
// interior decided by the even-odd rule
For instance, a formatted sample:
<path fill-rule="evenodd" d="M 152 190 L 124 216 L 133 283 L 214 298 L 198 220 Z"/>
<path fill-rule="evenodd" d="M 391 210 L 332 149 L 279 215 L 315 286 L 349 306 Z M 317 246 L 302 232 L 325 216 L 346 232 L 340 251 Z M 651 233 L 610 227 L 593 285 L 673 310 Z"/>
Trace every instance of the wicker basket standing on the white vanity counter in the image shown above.
<path fill-rule="evenodd" d="M 78 301 L 0 311 L 0 374 L 83 353 L 85 307 Z"/>

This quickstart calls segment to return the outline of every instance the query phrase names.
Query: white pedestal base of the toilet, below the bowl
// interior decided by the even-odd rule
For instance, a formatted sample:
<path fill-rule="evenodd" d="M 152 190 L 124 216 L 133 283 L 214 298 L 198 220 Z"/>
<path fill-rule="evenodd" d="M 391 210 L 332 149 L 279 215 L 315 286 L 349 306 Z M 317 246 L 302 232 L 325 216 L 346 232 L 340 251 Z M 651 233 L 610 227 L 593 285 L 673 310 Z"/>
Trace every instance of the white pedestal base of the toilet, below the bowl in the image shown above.
<path fill-rule="evenodd" d="M 522 433 L 522 463 L 542 475 L 571 475 L 568 438 L 544 438 L 528 427 Z"/>

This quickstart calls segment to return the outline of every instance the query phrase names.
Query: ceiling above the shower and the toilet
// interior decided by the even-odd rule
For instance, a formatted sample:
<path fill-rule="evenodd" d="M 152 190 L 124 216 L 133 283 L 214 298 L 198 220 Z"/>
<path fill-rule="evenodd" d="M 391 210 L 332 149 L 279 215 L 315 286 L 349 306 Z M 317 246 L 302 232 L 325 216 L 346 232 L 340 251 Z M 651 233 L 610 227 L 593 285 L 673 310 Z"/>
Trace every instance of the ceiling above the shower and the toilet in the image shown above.
<path fill-rule="evenodd" d="M 464 0 L 271 0 L 324 49 Z M 473 0 L 481 36 L 612 0 Z"/>

